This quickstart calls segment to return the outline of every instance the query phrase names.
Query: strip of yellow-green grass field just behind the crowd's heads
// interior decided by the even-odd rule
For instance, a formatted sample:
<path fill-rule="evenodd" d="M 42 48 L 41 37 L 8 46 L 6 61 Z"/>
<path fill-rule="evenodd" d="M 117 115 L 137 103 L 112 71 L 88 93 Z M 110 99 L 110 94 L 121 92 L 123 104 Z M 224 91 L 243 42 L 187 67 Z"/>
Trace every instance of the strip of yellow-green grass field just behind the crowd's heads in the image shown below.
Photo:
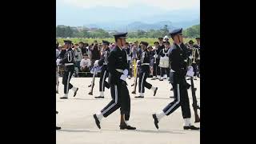
<path fill-rule="evenodd" d="M 60 44 L 63 44 L 63 40 L 66 39 L 66 38 L 57 38 L 58 39 L 58 42 Z M 91 43 L 94 42 L 94 40 L 97 40 L 98 43 L 102 42 L 102 40 L 106 40 L 108 42 L 114 42 L 114 38 L 70 38 L 70 40 L 73 42 L 73 43 L 78 43 L 78 42 L 86 42 L 86 43 L 89 43 L 89 45 Z M 190 39 L 192 39 L 194 42 L 196 42 L 196 40 L 194 38 L 184 38 L 184 42 L 189 42 Z M 158 38 L 127 38 L 126 39 L 126 42 L 135 42 L 135 41 L 138 41 L 138 42 L 149 42 L 150 46 L 154 46 L 154 42 L 158 41 Z M 170 39 L 170 42 L 172 42 L 172 40 Z"/>

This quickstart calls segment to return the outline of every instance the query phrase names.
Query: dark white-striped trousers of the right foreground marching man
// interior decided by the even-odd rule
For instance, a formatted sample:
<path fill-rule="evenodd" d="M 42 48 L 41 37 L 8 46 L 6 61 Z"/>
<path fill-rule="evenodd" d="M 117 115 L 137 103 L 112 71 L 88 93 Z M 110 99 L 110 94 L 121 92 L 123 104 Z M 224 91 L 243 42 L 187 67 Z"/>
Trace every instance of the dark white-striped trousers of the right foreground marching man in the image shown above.
<path fill-rule="evenodd" d="M 180 78 L 178 74 L 173 74 L 174 101 L 170 102 L 162 111 L 166 114 L 172 114 L 179 106 L 182 107 L 182 117 L 191 118 L 190 100 L 187 94 L 186 79 Z"/>

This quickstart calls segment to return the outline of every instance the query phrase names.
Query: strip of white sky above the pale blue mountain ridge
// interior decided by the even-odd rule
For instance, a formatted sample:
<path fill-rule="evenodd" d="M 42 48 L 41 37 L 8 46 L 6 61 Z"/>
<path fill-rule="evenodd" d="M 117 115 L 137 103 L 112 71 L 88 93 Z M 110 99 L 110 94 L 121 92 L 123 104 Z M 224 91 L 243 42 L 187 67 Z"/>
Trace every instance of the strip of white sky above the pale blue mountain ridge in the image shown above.
<path fill-rule="evenodd" d="M 199 8 L 200 0 L 58 0 L 71 6 L 91 8 L 96 6 L 113 6 L 126 8 L 130 6 L 155 6 L 162 10 L 180 10 Z"/>

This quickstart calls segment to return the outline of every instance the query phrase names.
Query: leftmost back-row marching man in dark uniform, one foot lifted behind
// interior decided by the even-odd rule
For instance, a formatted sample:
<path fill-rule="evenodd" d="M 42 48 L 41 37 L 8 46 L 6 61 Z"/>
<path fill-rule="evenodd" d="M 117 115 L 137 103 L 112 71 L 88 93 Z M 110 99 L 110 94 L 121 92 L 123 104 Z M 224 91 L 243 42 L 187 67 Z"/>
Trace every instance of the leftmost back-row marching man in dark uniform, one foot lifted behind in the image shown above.
<path fill-rule="evenodd" d="M 64 58 L 60 61 L 62 65 L 64 65 L 64 75 L 62 78 L 62 84 L 64 85 L 64 96 L 62 99 L 67 99 L 69 90 L 74 90 L 74 97 L 78 92 L 78 88 L 74 87 L 70 83 L 70 79 L 72 74 L 74 74 L 74 51 L 71 48 L 71 41 L 64 40 L 64 46 L 66 48 L 66 54 L 64 54 Z"/>

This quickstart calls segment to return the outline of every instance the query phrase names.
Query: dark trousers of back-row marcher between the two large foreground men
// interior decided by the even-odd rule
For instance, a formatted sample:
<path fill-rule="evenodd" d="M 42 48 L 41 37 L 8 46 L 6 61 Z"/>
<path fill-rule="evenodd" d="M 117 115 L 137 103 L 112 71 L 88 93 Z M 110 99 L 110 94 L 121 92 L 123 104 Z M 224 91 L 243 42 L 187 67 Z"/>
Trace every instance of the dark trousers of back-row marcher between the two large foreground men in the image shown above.
<path fill-rule="evenodd" d="M 149 73 L 146 72 L 140 72 L 139 73 L 139 79 L 138 79 L 138 92 L 139 93 L 145 93 L 145 87 L 147 89 L 151 89 L 152 85 L 148 82 L 146 82 L 146 78 L 149 76 Z"/>

